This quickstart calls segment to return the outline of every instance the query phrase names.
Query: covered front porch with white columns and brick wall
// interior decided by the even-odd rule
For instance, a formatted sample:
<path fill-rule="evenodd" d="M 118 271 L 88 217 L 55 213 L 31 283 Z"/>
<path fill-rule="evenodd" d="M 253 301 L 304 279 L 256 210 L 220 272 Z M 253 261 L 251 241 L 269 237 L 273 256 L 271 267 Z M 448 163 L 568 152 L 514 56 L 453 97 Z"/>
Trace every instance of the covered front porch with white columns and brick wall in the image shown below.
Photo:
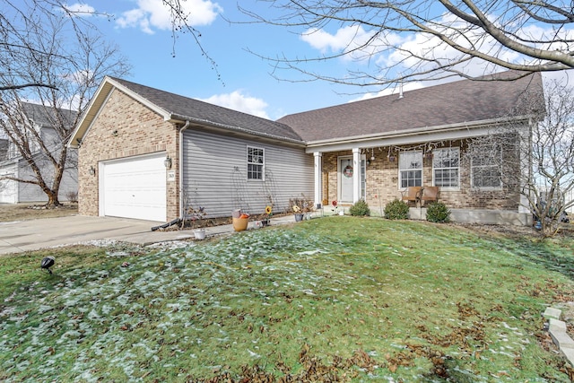
<path fill-rule="evenodd" d="M 467 127 L 309 144 L 308 152 L 314 157 L 314 202 L 328 215 L 345 212 L 362 199 L 371 215 L 382 216 L 388 203 L 402 199 L 406 187 L 433 187 L 439 188 L 439 202 L 452 212 L 453 222 L 531 224 L 524 196 L 517 190 L 474 185 L 476 169 L 472 161 L 462 159 L 469 142 L 488 134 L 491 126 Z M 410 217 L 424 220 L 424 203 L 408 203 Z"/>

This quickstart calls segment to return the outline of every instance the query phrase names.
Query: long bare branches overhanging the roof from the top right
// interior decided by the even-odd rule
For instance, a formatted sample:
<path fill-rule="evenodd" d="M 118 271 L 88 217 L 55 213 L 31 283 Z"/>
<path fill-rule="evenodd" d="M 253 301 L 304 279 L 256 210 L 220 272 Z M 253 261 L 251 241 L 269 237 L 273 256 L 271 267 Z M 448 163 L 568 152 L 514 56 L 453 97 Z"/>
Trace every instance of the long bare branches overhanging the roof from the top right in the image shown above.
<path fill-rule="evenodd" d="M 436 81 L 450 75 L 478 78 L 471 63 L 491 70 L 553 72 L 574 68 L 574 10 L 570 3 L 534 0 L 269 0 L 278 16 L 240 7 L 251 22 L 288 28 L 311 40 L 317 32 L 361 30 L 314 57 L 271 57 L 273 65 L 303 74 L 295 81 L 324 80 L 360 86 Z M 416 40 L 418 44 L 413 44 Z M 344 47 L 344 48 L 339 48 Z M 248 49 L 248 51 L 251 51 Z M 330 53 L 328 53 L 330 52 Z M 317 63 L 345 58 L 346 74 L 326 74 Z M 292 79 L 288 81 L 293 81 Z"/>

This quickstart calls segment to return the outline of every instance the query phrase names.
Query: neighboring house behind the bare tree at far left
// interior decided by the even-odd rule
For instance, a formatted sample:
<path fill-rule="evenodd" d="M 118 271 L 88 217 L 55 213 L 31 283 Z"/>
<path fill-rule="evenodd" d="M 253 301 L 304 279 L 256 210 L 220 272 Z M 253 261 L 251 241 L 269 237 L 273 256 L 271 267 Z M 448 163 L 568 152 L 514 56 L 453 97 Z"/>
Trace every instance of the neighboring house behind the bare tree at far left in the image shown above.
<path fill-rule="evenodd" d="M 59 153 L 65 143 L 58 138 L 54 127 L 51 126 L 50 118 L 47 115 L 50 109 L 32 103 L 22 103 L 22 109 L 22 113 L 31 122 L 32 128 L 39 133 L 42 142 L 47 144 L 49 152 L 53 154 Z M 60 110 L 60 112 L 69 121 L 73 121 L 74 111 Z M 48 185 L 51 185 L 54 178 L 53 164 L 48 161 L 46 154 L 40 150 L 40 145 L 37 141 L 30 139 L 29 144 L 35 162 L 39 165 L 42 177 L 47 181 Z M 58 192 L 60 201 L 66 201 L 71 194 L 77 194 L 77 151 L 74 149 L 68 150 L 66 165 Z M 18 204 L 48 201 L 48 196 L 38 185 L 18 182 L 11 178 L 34 180 L 36 175 L 30 168 L 30 164 L 22 158 L 15 144 L 4 137 L 0 139 L 0 203 Z"/>

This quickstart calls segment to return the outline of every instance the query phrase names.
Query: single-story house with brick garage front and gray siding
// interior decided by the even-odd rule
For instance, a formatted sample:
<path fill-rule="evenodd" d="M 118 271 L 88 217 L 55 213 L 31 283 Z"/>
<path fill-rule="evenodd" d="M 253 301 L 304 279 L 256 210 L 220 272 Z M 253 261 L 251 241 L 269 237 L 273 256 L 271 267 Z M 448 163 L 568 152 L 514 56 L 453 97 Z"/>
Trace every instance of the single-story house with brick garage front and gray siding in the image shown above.
<path fill-rule="evenodd" d="M 461 159 L 541 87 L 540 74 L 462 80 L 271 121 L 107 77 L 69 142 L 79 148 L 79 211 L 169 222 L 190 206 L 257 214 L 304 196 L 323 207 L 364 199 L 377 214 L 406 187 L 436 186 L 455 220 L 524 224 L 518 188 L 491 164 Z M 526 134 L 535 123 L 512 119 Z"/>

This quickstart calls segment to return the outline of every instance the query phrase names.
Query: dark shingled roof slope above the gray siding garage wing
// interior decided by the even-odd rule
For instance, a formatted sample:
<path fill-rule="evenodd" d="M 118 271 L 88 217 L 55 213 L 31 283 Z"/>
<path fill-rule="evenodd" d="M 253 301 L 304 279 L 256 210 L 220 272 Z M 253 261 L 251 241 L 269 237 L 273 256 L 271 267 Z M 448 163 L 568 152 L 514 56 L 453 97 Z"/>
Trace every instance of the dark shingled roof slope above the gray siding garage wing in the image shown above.
<path fill-rule="evenodd" d="M 149 100 L 152 104 L 165 110 L 173 118 L 191 120 L 197 123 L 205 123 L 210 126 L 220 126 L 232 130 L 240 130 L 255 135 L 266 135 L 278 139 L 290 141 L 302 141 L 300 135 L 291 127 L 280 122 L 265 118 L 258 118 L 237 110 L 223 108 L 204 101 L 190 99 L 169 91 L 160 91 L 138 83 L 112 78 L 113 81 L 122 84 L 130 91 Z"/>

